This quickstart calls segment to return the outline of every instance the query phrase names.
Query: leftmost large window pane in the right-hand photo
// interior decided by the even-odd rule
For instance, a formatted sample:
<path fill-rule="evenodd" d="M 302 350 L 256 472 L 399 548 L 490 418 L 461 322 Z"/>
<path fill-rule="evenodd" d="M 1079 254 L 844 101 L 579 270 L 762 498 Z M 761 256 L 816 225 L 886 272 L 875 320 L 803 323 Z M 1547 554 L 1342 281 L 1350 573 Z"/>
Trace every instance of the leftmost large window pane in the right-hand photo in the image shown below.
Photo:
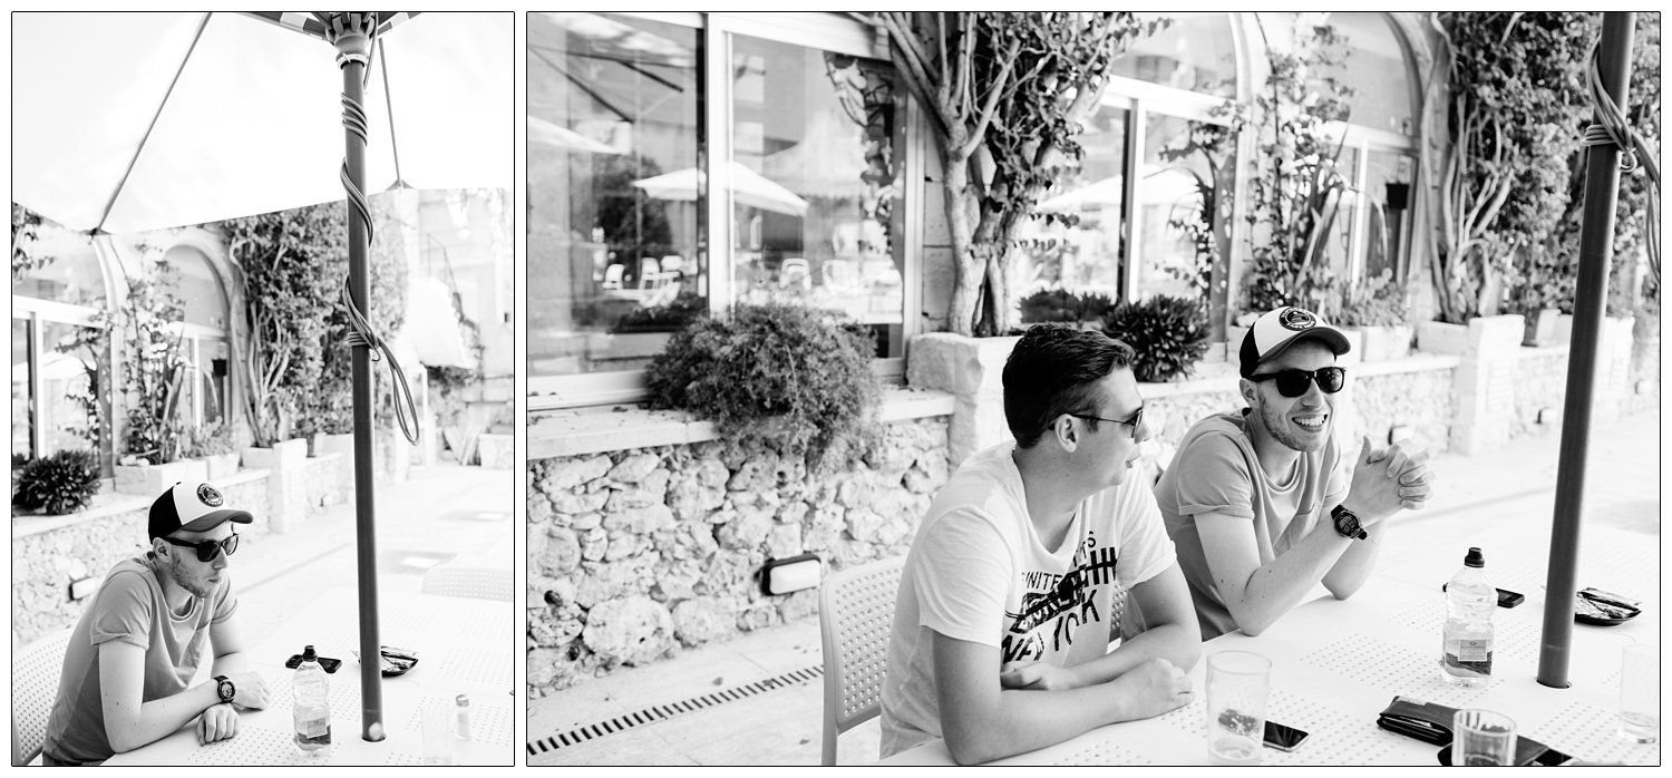
<path fill-rule="evenodd" d="M 701 30 L 528 15 L 528 371 L 642 368 L 707 310 Z"/>

